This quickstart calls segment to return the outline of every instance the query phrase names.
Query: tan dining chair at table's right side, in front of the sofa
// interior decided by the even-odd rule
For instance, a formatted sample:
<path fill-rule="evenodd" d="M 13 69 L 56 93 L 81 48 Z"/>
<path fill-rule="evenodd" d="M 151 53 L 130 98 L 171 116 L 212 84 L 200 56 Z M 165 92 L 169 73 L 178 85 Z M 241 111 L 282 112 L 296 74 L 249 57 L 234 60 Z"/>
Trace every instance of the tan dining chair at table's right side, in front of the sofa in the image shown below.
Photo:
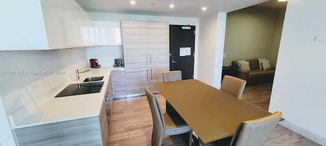
<path fill-rule="evenodd" d="M 221 90 L 240 99 L 246 83 L 246 80 L 225 75 L 222 81 Z"/>

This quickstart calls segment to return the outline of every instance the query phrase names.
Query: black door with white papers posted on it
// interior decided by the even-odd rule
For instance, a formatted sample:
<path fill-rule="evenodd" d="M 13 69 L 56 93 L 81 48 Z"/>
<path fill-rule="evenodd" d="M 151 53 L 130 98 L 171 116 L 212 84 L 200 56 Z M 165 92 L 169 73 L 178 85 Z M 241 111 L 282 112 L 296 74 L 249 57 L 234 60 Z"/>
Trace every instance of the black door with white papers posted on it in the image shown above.
<path fill-rule="evenodd" d="M 170 25 L 170 71 L 181 70 L 182 80 L 194 79 L 195 29 Z"/>

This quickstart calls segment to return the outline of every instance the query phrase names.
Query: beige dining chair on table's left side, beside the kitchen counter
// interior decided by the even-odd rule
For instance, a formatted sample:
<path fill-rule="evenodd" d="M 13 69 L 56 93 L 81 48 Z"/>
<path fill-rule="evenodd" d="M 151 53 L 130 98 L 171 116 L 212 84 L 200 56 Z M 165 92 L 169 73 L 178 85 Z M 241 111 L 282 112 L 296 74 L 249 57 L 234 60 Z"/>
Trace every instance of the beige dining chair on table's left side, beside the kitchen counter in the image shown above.
<path fill-rule="evenodd" d="M 160 146 L 163 136 L 178 135 L 186 132 L 190 132 L 189 145 L 192 145 L 193 130 L 183 121 L 182 118 L 170 118 L 167 113 L 162 113 L 157 98 L 153 93 L 151 93 L 147 86 L 145 87 L 145 93 L 153 118 L 152 146 Z"/>

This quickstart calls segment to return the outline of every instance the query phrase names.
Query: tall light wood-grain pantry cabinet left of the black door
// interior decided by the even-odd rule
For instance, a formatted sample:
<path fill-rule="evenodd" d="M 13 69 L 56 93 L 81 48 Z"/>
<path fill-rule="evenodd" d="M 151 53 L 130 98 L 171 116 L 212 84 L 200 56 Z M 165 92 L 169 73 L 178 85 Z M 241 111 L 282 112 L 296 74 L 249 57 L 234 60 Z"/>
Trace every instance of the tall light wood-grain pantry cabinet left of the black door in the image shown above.
<path fill-rule="evenodd" d="M 159 93 L 169 66 L 168 22 L 121 21 L 127 97 L 144 95 L 144 87 Z"/>

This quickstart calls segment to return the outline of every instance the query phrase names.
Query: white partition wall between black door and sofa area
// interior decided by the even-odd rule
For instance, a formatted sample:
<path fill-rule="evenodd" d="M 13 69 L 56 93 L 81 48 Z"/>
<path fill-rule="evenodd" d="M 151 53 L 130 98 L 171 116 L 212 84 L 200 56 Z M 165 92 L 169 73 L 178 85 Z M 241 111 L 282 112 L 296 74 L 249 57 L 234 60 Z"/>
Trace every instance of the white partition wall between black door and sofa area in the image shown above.
<path fill-rule="evenodd" d="M 221 88 L 226 13 L 199 18 L 198 80 Z"/>

